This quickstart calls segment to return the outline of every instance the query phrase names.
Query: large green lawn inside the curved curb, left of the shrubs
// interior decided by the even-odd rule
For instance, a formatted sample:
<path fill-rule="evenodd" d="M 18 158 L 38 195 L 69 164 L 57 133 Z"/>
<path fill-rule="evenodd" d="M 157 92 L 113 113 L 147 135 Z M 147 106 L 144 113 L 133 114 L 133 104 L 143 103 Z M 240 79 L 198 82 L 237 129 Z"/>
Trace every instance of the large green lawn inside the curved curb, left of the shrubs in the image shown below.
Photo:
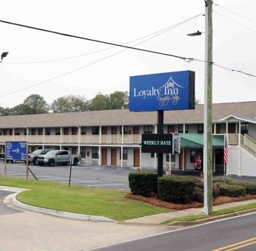
<path fill-rule="evenodd" d="M 0 185 L 29 188 L 16 198 L 25 204 L 54 210 L 104 216 L 116 221 L 134 219 L 170 210 L 155 207 L 145 202 L 125 199 L 127 194 L 118 190 L 88 188 L 84 186 L 60 184 L 0 176 Z"/>

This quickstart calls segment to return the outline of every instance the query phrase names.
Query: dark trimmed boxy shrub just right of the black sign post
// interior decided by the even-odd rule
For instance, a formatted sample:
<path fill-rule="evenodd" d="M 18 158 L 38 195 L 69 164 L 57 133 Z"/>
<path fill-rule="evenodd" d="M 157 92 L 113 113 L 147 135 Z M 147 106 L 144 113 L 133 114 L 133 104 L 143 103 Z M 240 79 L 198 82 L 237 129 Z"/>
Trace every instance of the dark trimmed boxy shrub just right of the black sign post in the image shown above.
<path fill-rule="evenodd" d="M 195 180 L 189 177 L 159 177 L 158 197 L 166 202 L 192 202 L 195 193 Z"/>

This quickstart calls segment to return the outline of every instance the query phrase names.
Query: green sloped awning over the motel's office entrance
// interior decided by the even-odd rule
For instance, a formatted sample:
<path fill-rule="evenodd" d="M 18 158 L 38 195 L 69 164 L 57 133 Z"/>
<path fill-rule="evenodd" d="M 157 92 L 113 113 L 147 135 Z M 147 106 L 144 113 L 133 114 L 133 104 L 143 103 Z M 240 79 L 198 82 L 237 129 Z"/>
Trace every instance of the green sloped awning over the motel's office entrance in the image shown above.
<path fill-rule="evenodd" d="M 223 148 L 224 136 L 212 135 L 212 147 Z M 181 134 L 181 148 L 203 148 L 203 134 Z"/>

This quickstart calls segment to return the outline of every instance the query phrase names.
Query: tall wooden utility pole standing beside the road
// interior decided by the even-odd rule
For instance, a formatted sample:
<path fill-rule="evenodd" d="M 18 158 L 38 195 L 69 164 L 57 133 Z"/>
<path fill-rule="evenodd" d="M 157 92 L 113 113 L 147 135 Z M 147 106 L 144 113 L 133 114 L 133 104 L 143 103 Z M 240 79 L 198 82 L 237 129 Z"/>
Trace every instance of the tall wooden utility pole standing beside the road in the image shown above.
<path fill-rule="evenodd" d="M 203 111 L 204 197 L 202 213 L 212 215 L 212 0 L 205 0 L 205 69 Z"/>

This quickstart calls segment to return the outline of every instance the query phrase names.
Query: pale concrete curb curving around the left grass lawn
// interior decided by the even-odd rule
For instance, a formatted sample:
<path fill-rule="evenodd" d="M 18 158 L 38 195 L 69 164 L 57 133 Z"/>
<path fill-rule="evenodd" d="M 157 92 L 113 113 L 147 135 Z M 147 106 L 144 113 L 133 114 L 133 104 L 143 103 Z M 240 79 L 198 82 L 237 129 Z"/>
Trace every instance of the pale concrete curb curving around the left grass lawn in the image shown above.
<path fill-rule="evenodd" d="M 5 188 L 1 188 L 1 190 L 5 190 Z M 66 219 L 76 219 L 76 220 L 81 220 L 81 221 L 105 221 L 105 222 L 117 222 L 112 219 L 102 217 L 102 216 L 90 216 L 90 215 L 85 215 L 81 213 L 69 213 L 69 212 L 64 212 L 64 211 L 59 211 L 59 210 L 53 210 L 53 209 L 47 209 L 47 208 L 42 208 L 42 207 L 34 207 L 29 204 L 24 204 L 22 202 L 18 202 L 16 199 L 16 196 L 18 193 L 21 193 L 22 190 L 15 190 L 12 189 L 10 191 L 16 192 L 13 194 L 10 194 L 4 198 L 4 204 L 14 204 L 16 207 L 20 207 L 25 210 L 30 210 L 36 213 L 45 213 L 49 214 L 51 216 L 57 216 L 57 217 L 62 217 Z"/>

